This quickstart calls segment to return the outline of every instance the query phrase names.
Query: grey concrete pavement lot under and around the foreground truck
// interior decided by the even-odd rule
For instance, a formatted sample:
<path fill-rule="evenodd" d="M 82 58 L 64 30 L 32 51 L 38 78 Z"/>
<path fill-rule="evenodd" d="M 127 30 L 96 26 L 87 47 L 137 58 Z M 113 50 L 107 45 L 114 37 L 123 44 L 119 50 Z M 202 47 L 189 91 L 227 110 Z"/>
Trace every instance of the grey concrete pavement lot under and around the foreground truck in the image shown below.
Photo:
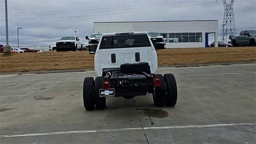
<path fill-rule="evenodd" d="M 256 143 L 256 65 L 159 68 L 178 84 L 174 107 L 152 95 L 82 102 L 89 72 L 0 75 L 0 143 Z"/>

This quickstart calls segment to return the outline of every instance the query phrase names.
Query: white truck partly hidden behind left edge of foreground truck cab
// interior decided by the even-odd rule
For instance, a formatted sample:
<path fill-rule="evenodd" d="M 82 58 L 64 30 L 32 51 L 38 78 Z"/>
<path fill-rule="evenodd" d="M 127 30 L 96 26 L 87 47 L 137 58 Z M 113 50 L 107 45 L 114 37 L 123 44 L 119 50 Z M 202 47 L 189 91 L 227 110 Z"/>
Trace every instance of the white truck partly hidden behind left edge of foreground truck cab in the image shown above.
<path fill-rule="evenodd" d="M 102 36 L 103 33 L 93 33 L 90 38 L 88 38 L 88 36 L 86 36 L 86 40 L 88 41 L 88 50 L 90 52 L 90 54 L 94 54 L 96 52 L 97 46 L 100 42 L 100 38 Z"/>

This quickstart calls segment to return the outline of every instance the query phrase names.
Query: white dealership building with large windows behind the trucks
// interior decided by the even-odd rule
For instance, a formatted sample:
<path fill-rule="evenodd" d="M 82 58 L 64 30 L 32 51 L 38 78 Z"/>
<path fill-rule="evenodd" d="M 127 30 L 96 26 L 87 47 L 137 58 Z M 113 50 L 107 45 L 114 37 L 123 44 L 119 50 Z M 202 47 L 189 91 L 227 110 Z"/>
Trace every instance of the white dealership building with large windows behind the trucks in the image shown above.
<path fill-rule="evenodd" d="M 156 31 L 166 39 L 166 48 L 208 47 L 208 35 L 214 34 L 215 47 L 218 47 L 218 20 L 94 22 L 93 31 Z"/>

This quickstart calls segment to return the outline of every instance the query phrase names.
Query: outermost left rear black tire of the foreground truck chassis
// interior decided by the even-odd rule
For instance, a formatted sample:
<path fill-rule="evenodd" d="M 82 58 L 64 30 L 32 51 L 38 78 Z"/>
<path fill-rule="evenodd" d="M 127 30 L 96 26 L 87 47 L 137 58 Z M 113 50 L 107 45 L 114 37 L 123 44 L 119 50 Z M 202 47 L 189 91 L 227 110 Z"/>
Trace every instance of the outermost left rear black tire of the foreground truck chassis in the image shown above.
<path fill-rule="evenodd" d="M 83 100 L 86 110 L 94 110 L 94 79 L 92 77 L 84 78 Z"/>

